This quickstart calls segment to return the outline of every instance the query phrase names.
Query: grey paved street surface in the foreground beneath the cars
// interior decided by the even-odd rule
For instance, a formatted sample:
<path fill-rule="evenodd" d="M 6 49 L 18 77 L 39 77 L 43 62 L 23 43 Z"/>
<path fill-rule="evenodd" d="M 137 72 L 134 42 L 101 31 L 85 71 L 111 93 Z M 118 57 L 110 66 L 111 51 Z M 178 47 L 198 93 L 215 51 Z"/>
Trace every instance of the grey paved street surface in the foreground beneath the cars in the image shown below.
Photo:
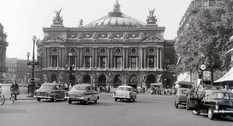
<path fill-rule="evenodd" d="M 174 107 L 174 95 L 139 93 L 135 102 L 115 102 L 113 93 L 100 93 L 97 103 L 44 100 L 20 94 L 11 104 L 6 95 L 0 106 L 1 126 L 231 126 L 233 118 L 226 116 L 214 121 L 207 114 L 193 115 L 185 106 Z"/>

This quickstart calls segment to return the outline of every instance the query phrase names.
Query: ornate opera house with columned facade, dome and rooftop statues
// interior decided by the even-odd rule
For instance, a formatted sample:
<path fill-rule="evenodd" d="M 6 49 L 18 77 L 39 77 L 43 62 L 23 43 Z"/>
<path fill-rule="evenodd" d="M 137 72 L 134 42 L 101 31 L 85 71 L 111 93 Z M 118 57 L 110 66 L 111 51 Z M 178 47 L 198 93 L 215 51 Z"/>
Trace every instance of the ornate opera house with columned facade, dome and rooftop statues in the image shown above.
<path fill-rule="evenodd" d="M 80 20 L 77 27 L 63 25 L 61 10 L 55 14 L 36 42 L 36 77 L 43 81 L 149 88 L 160 81 L 171 87 L 176 80 L 168 69 L 176 63 L 174 40 L 164 39 L 154 10 L 144 23 L 122 13 L 116 1 L 106 16 L 87 25 Z"/>

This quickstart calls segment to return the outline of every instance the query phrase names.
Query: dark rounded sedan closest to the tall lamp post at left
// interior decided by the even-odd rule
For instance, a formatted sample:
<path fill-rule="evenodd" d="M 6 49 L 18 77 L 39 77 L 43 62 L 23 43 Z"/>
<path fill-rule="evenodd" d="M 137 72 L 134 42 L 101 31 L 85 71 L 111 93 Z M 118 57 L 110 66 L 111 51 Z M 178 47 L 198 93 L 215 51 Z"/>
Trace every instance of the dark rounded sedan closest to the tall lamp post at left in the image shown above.
<path fill-rule="evenodd" d="M 57 100 L 66 100 L 67 91 L 59 83 L 43 83 L 41 87 L 34 92 L 37 101 L 49 99 L 54 102 Z"/>

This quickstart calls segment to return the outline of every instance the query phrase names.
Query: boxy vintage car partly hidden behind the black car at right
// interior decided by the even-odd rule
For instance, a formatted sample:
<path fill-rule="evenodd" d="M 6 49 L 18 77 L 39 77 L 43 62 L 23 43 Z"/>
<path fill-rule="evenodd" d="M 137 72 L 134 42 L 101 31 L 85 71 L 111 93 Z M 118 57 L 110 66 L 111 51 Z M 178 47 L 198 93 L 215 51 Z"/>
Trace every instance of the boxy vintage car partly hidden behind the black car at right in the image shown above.
<path fill-rule="evenodd" d="M 187 91 L 192 87 L 193 82 L 179 82 L 175 87 L 175 107 L 178 108 L 179 105 L 186 105 L 187 102 Z"/>

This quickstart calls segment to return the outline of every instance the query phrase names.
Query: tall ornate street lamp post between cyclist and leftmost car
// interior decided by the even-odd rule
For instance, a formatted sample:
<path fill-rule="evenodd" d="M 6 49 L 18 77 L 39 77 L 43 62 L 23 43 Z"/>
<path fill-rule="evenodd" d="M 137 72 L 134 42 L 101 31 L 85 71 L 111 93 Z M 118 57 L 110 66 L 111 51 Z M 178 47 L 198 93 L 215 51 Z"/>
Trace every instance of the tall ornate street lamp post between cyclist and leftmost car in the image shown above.
<path fill-rule="evenodd" d="M 32 37 L 32 41 L 33 41 L 32 61 L 29 61 L 30 53 L 27 52 L 27 58 L 28 58 L 27 65 L 30 65 L 32 67 L 32 76 L 31 76 L 31 79 L 29 80 L 29 84 L 28 84 L 28 97 L 33 97 L 33 95 L 34 95 L 34 91 L 35 91 L 35 78 L 34 78 L 35 65 L 39 65 L 39 62 L 35 61 L 35 42 L 36 42 L 36 40 L 37 40 L 36 36 L 33 36 Z"/>

